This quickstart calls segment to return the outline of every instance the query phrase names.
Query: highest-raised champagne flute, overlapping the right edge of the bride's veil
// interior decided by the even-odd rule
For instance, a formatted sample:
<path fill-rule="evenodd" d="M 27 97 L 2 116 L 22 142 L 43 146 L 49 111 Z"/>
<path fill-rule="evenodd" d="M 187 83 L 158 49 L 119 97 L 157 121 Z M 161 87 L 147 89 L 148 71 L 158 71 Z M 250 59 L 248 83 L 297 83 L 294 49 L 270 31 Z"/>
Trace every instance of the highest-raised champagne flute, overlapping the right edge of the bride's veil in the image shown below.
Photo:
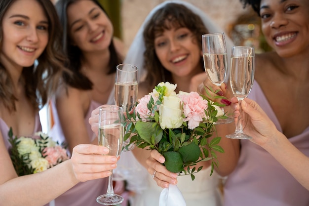
<path fill-rule="evenodd" d="M 202 35 L 202 49 L 204 68 L 208 79 L 215 85 L 220 86 L 227 74 L 227 48 L 224 33 L 212 33 Z M 224 113 L 224 108 L 222 107 Z M 218 118 L 214 124 L 232 123 L 232 118 Z"/>

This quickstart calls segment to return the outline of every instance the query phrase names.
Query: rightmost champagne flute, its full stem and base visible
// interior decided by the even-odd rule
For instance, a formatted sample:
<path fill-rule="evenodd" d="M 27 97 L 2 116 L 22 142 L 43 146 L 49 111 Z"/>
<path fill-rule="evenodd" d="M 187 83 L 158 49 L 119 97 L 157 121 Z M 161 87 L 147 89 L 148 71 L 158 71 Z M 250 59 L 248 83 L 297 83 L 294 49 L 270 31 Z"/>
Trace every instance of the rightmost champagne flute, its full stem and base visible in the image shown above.
<path fill-rule="evenodd" d="M 233 46 L 231 55 L 230 83 L 239 102 L 239 116 L 235 132 L 226 135 L 232 139 L 251 139 L 242 131 L 241 101 L 248 96 L 254 82 L 254 47 Z"/>

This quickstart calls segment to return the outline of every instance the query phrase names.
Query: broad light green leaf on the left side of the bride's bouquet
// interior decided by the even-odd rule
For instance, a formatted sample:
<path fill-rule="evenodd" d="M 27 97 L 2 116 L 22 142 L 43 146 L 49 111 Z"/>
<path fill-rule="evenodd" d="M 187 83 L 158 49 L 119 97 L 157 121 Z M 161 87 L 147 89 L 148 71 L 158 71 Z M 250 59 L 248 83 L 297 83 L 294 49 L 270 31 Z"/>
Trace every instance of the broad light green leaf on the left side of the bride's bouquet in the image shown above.
<path fill-rule="evenodd" d="M 135 128 L 140 137 L 150 145 L 157 144 L 163 135 L 163 130 L 157 123 L 137 122 Z M 152 138 L 154 138 L 154 142 L 152 142 Z"/>

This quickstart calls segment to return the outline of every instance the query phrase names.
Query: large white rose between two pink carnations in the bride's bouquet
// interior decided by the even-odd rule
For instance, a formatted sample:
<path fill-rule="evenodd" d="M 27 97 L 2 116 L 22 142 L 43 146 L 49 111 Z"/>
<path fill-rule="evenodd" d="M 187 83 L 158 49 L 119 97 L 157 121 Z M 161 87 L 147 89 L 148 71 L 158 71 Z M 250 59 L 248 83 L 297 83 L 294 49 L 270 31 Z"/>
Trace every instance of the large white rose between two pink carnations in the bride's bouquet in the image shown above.
<path fill-rule="evenodd" d="M 181 101 L 177 96 L 164 96 L 159 108 L 160 126 L 165 128 L 178 128 L 184 120 L 182 117 Z"/>

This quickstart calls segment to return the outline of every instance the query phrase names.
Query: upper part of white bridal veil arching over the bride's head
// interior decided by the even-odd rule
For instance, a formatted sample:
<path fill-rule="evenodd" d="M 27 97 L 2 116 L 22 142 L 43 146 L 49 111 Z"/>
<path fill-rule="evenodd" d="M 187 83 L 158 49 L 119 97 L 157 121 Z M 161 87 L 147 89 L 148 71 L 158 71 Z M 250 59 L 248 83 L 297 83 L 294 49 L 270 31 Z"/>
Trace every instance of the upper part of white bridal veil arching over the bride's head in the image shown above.
<path fill-rule="evenodd" d="M 213 22 L 213 20 L 208 15 L 206 15 L 204 13 L 204 11 L 202 11 L 201 9 L 197 8 L 196 6 L 194 6 L 193 4 L 191 4 L 189 2 L 181 1 L 181 0 L 167 0 L 167 1 L 164 1 L 163 3 L 158 4 L 148 14 L 148 16 L 146 17 L 142 26 L 138 30 L 134 40 L 132 41 L 132 44 L 131 44 L 129 50 L 127 52 L 127 55 L 126 55 L 126 57 L 123 61 L 124 63 L 134 64 L 139 68 L 140 82 L 143 81 L 146 77 L 146 71 L 145 71 L 145 68 L 144 68 L 144 52 L 146 50 L 146 47 L 145 47 L 145 42 L 144 42 L 144 38 L 143 38 L 143 32 L 144 32 L 145 26 L 147 25 L 149 20 L 153 17 L 153 15 L 156 11 L 158 9 L 164 7 L 168 3 L 183 4 L 187 8 L 192 10 L 193 13 L 197 14 L 201 18 L 201 20 L 203 21 L 203 23 L 204 23 L 204 25 L 207 28 L 209 33 L 224 32 L 224 30 L 222 28 L 220 28 L 218 25 L 216 25 L 216 23 Z M 226 45 L 227 45 L 228 57 L 230 57 L 233 42 L 227 35 L 225 35 L 225 40 L 226 40 Z M 228 59 L 230 59 L 230 58 L 228 58 Z M 229 74 L 229 72 L 227 72 L 227 77 L 229 77 L 228 74 Z"/>

